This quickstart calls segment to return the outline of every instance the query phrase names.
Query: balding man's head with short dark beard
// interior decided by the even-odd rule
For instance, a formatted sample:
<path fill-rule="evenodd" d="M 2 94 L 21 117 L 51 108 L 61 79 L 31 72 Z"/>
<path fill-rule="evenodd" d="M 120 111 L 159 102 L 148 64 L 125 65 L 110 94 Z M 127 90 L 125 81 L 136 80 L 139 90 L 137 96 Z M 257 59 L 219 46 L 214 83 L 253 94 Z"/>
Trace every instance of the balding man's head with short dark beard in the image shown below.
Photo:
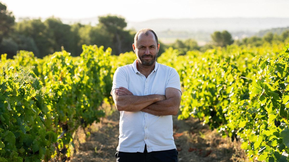
<path fill-rule="evenodd" d="M 155 63 L 160 44 L 158 37 L 151 29 L 140 29 L 135 37 L 132 48 L 138 58 L 138 63 L 145 66 L 151 66 Z"/>

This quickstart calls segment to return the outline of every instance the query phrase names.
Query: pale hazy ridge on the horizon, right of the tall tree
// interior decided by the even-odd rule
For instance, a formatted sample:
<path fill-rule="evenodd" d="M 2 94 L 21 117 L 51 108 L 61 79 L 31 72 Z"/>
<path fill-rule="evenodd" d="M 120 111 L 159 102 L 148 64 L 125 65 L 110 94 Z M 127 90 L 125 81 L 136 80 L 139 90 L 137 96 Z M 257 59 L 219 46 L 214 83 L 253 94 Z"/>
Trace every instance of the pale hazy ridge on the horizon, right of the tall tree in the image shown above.
<path fill-rule="evenodd" d="M 143 22 L 128 22 L 128 28 L 136 31 L 151 28 L 157 31 L 209 32 L 227 30 L 230 32 L 287 27 L 289 18 L 194 18 L 194 19 L 153 19 Z"/>

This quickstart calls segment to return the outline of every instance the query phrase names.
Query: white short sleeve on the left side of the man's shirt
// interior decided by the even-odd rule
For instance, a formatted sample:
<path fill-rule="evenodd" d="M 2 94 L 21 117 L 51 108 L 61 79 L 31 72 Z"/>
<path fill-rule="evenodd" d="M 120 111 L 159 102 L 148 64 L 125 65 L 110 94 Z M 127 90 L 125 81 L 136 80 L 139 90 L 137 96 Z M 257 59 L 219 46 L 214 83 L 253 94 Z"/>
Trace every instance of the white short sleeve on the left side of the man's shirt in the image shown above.
<path fill-rule="evenodd" d="M 119 87 L 125 87 L 128 89 L 128 82 L 125 72 L 118 67 L 113 75 L 112 90 L 110 91 L 110 94 L 112 95 L 112 91 Z"/>

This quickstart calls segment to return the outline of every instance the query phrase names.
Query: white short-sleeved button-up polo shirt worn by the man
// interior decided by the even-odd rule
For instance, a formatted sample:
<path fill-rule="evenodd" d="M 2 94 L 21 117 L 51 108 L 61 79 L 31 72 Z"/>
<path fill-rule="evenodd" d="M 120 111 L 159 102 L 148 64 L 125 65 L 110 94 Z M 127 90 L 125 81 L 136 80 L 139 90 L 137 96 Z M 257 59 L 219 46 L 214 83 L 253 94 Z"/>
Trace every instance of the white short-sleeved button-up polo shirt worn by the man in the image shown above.
<path fill-rule="evenodd" d="M 168 87 L 181 91 L 179 74 L 174 68 L 156 62 L 155 68 L 146 78 L 137 70 L 136 61 L 116 69 L 112 90 L 122 86 L 137 96 L 165 95 Z M 144 152 L 145 144 L 147 152 L 176 148 L 172 115 L 156 116 L 142 111 L 120 111 L 120 115 L 119 143 L 116 150 Z"/>

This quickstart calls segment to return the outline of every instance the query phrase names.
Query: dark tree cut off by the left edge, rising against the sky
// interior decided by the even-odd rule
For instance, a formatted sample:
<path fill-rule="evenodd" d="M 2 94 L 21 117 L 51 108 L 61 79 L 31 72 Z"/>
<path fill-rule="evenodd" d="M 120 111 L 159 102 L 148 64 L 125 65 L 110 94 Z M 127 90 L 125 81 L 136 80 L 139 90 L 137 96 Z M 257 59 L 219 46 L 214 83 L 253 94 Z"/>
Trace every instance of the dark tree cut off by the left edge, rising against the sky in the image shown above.
<path fill-rule="evenodd" d="M 14 23 L 12 12 L 7 11 L 7 6 L 0 2 L 0 44 L 3 38 L 9 35 Z"/>

